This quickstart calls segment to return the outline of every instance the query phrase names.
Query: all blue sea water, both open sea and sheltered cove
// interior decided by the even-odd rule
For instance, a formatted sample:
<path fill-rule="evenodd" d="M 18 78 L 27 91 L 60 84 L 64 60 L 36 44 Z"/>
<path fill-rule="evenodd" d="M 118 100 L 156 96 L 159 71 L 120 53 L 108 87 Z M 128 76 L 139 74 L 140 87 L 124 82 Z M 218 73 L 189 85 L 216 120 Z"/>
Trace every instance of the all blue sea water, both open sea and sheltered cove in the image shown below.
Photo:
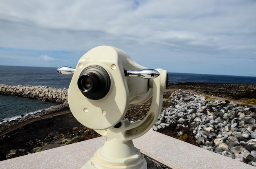
<path fill-rule="evenodd" d="M 0 66 L 0 84 L 48 86 L 68 88 L 72 75 L 59 75 L 57 68 Z M 203 75 L 189 73 L 168 73 L 169 83 L 177 82 L 206 82 L 206 83 L 253 83 L 256 77 Z M 56 103 L 0 95 L 0 124 L 13 120 L 21 115 L 36 113 Z"/>

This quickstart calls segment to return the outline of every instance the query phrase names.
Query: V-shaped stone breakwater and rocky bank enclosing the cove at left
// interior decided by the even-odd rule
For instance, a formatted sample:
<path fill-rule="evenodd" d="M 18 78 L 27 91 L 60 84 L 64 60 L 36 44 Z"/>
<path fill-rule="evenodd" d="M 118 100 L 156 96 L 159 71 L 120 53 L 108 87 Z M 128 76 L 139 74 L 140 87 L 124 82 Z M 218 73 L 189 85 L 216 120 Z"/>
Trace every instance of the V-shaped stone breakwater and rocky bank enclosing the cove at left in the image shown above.
<path fill-rule="evenodd" d="M 51 106 L 46 110 L 37 112 L 36 114 L 29 114 L 27 116 L 22 116 L 13 121 L 7 121 L 5 123 L 1 123 L 0 132 L 4 131 L 4 129 L 6 128 L 16 125 L 17 123 L 25 122 L 28 119 L 38 118 L 45 114 L 58 112 L 68 108 L 66 88 L 58 89 L 58 88 L 51 88 L 47 86 L 22 86 L 22 85 L 12 86 L 12 85 L 0 84 L 0 94 L 60 103 L 56 106 Z"/>

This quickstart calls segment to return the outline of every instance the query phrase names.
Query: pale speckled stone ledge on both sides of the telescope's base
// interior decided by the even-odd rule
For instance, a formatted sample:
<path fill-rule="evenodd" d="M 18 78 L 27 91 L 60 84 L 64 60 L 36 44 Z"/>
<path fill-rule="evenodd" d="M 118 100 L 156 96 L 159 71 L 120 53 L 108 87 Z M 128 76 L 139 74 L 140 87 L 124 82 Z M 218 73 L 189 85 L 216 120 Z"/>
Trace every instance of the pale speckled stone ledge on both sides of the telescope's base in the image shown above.
<path fill-rule="evenodd" d="M 0 169 L 80 169 L 99 147 L 104 137 L 41 151 L 0 162 Z M 133 140 L 140 151 L 172 169 L 256 169 L 164 134 L 150 130 Z"/>

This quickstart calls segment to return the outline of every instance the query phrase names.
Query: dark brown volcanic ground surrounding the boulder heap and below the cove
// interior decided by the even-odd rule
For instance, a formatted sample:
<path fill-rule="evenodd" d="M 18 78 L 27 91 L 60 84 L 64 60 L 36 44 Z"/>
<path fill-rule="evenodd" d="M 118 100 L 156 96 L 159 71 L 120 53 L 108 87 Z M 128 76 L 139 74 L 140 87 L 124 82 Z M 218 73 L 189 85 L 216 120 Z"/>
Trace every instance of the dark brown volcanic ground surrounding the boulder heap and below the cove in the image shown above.
<path fill-rule="evenodd" d="M 173 92 L 172 89 L 189 89 L 202 94 L 240 101 L 256 98 L 256 84 L 172 83 L 168 86 L 168 89 L 171 90 L 164 93 L 162 110 L 171 105 L 169 98 Z M 143 119 L 149 108 L 150 101 L 141 105 L 130 105 L 125 119 L 130 121 Z M 179 138 L 177 136 L 179 131 L 187 134 L 187 137 Z M 158 132 L 197 145 L 195 143 L 195 135 L 189 128 L 176 128 L 176 125 L 173 125 Z M 61 141 L 64 139 L 69 139 L 72 140 L 72 143 L 76 143 L 98 136 L 100 135 L 94 132 L 94 130 L 88 129 L 76 121 L 71 113 L 54 116 L 35 121 L 2 136 L 0 138 L 0 160 L 7 159 L 6 156 L 11 152 L 15 154 L 9 158 L 41 151 L 42 149 L 59 147 L 61 146 Z M 34 149 L 36 147 L 37 149 Z"/>

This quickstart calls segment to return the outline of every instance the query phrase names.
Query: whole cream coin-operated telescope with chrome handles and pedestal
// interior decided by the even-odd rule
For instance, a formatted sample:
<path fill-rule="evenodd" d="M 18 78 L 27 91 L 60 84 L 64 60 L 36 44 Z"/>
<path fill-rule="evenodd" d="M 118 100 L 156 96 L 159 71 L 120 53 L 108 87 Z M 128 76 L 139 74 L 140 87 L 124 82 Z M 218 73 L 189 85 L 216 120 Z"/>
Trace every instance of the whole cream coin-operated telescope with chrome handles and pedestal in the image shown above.
<path fill-rule="evenodd" d="M 75 69 L 60 67 L 57 71 L 62 75 L 74 73 L 68 89 L 74 117 L 106 137 L 103 147 L 82 168 L 146 169 L 146 160 L 132 139 L 148 132 L 157 120 L 168 85 L 167 71 L 140 66 L 112 46 L 93 48 Z M 144 103 L 151 97 L 144 119 L 134 123 L 123 119 L 130 104 Z"/>

